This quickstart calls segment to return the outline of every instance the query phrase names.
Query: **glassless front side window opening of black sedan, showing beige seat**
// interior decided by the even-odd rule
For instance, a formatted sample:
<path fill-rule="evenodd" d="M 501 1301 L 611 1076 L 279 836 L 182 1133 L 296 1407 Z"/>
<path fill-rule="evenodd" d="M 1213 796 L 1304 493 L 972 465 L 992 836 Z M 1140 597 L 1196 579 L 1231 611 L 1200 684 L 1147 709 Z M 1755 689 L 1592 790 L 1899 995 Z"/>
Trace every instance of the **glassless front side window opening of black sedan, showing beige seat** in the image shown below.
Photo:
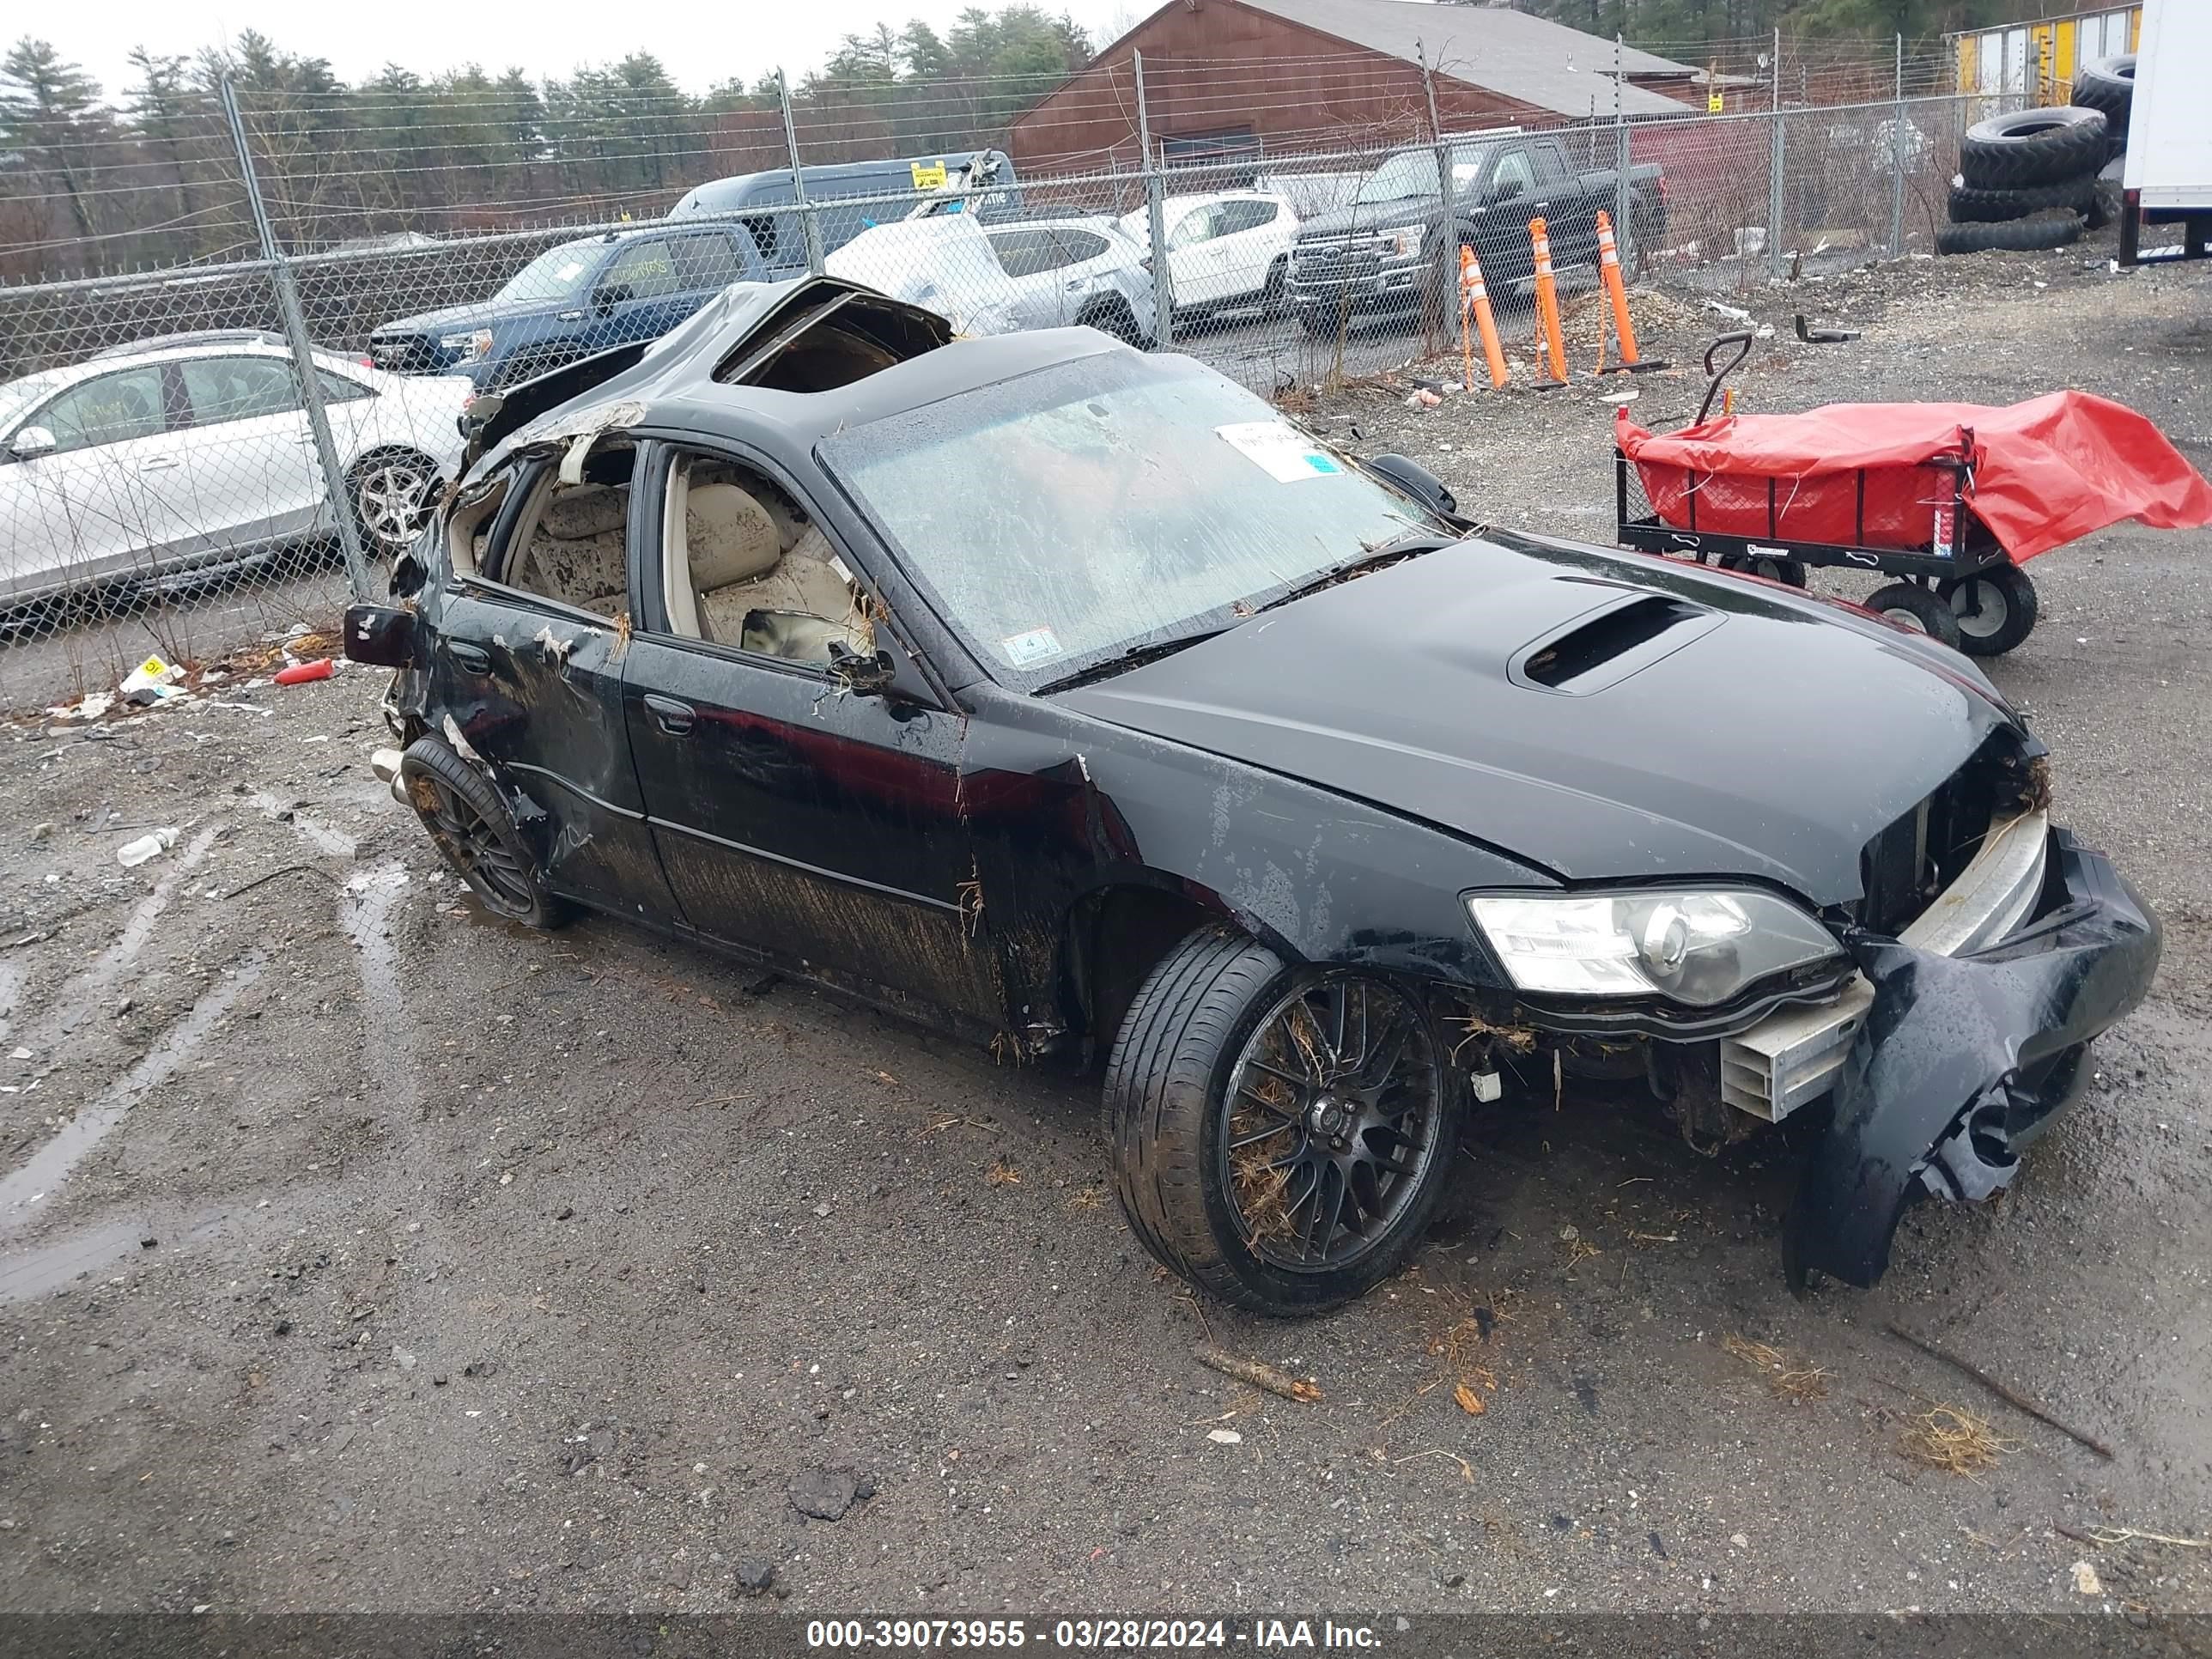
<path fill-rule="evenodd" d="M 785 489 L 723 456 L 668 469 L 661 515 L 668 628 L 779 661 L 874 655 L 867 597 L 821 524 Z"/>

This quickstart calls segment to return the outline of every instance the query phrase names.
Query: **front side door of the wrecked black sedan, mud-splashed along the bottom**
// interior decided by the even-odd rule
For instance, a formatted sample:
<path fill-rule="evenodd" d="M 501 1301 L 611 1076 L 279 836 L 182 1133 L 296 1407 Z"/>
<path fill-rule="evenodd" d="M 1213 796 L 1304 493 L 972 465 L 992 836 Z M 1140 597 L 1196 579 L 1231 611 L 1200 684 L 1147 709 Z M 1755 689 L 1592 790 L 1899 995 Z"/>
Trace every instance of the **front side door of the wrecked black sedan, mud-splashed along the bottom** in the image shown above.
<path fill-rule="evenodd" d="M 714 489 L 774 502 L 783 522 L 796 507 L 796 520 L 825 533 L 812 502 L 757 453 L 661 456 L 664 480 L 723 469 L 745 482 Z M 666 502 L 666 482 L 650 493 Z M 706 487 L 686 487 L 684 500 L 675 553 L 644 575 L 657 586 L 633 628 L 622 690 L 653 841 L 684 918 L 717 940 L 995 1022 L 1000 975 L 978 925 L 960 812 L 960 717 L 843 695 L 825 661 L 748 650 L 750 626 L 730 644 L 721 630 L 701 637 L 697 619 L 684 624 L 684 604 L 699 615 L 714 604 L 686 593 L 668 606 L 668 568 L 708 580 L 686 544 L 712 533 Z M 834 535 L 816 549 L 856 568 Z"/>

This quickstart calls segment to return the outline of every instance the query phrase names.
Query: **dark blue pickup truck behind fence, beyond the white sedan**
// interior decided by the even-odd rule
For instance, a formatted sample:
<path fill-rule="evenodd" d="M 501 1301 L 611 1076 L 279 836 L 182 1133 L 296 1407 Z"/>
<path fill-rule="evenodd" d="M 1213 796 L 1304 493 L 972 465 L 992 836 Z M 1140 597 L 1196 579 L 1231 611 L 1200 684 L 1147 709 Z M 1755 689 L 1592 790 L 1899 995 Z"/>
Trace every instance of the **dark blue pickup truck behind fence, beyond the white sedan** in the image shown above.
<path fill-rule="evenodd" d="M 394 374 L 467 374 L 489 392 L 659 338 L 730 283 L 774 274 L 787 272 L 770 272 L 743 226 L 611 230 L 546 248 L 491 299 L 383 323 L 369 361 Z"/>

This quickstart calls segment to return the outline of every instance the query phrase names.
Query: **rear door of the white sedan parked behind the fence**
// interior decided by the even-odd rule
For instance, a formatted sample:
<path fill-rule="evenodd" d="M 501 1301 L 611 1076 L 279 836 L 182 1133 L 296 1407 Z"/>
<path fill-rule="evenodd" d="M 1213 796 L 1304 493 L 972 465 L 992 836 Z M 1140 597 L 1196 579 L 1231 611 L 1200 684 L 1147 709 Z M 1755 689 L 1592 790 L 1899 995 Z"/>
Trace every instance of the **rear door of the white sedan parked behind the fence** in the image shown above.
<path fill-rule="evenodd" d="M 175 489 L 190 502 L 190 551 L 243 549 L 305 535 L 323 504 L 323 473 L 292 361 L 192 356 L 184 383 Z"/>

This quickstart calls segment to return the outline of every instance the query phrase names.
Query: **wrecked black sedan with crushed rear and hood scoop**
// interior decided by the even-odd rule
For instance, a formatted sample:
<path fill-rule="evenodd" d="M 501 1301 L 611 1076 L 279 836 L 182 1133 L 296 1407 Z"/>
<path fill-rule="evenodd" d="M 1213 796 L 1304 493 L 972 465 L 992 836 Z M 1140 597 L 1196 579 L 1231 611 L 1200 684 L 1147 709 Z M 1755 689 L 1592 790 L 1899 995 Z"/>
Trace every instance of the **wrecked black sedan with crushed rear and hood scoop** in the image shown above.
<path fill-rule="evenodd" d="M 1146 1245 L 1374 1285 L 1469 1097 L 1827 1117 L 1792 1281 L 2002 1188 L 2159 929 L 1964 657 L 1475 529 L 1091 330 L 810 279 L 476 405 L 347 648 L 493 911 L 575 907 L 1104 1068 Z"/>

